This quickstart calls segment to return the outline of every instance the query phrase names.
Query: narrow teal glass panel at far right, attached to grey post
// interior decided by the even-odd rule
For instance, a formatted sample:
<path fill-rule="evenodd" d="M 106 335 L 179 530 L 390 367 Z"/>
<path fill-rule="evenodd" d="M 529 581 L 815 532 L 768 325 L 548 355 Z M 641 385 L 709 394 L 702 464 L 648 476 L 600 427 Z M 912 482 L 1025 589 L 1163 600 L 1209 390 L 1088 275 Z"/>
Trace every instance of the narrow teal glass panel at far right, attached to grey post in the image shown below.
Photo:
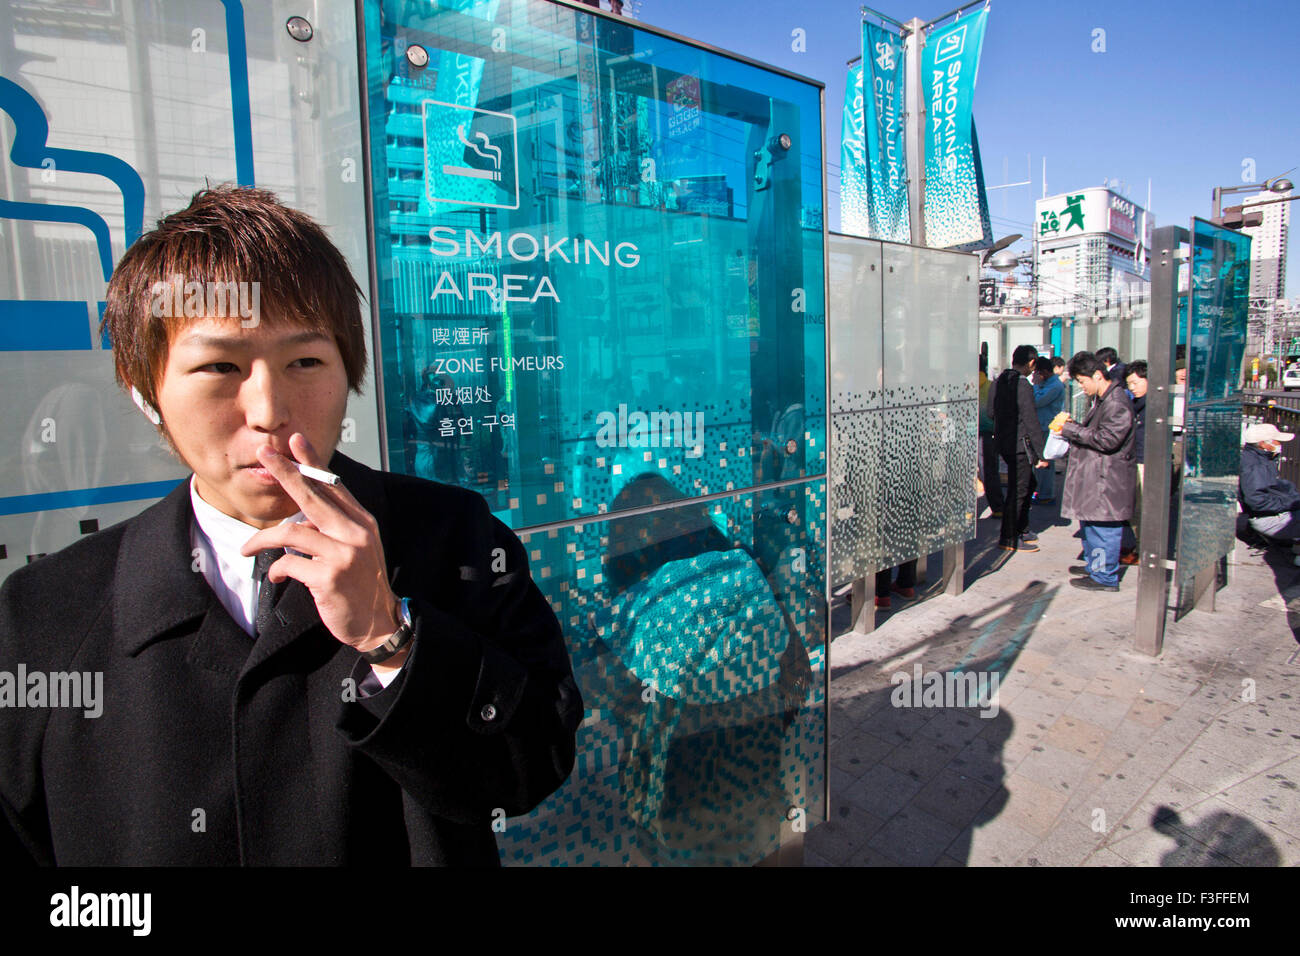
<path fill-rule="evenodd" d="M 1251 237 L 1192 220 L 1190 265 L 1179 614 L 1191 609 L 1196 575 L 1235 542 Z"/>

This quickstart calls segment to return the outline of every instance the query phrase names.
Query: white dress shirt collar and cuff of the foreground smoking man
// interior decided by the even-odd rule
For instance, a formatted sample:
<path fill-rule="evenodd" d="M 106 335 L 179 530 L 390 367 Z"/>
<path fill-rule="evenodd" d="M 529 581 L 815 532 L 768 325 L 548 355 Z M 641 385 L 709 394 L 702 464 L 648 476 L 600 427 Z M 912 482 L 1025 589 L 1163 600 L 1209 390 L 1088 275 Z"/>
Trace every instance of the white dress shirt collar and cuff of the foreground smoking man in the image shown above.
<path fill-rule="evenodd" d="M 199 570 L 203 571 L 212 591 L 216 592 L 217 600 L 251 637 L 257 619 L 257 580 L 254 578 L 256 555 L 244 557 L 239 549 L 260 529 L 218 511 L 200 498 L 192 476 L 190 477 L 190 503 L 194 506 L 194 522 L 190 524 L 191 554 L 199 559 Z M 299 511 L 282 520 L 281 524 L 304 520 L 307 520 L 307 515 Z M 365 685 L 370 684 L 372 680 L 378 680 L 381 687 L 387 687 L 400 672 L 400 670 L 393 670 L 380 674 L 372 669 L 370 675 L 361 682 L 361 696 L 369 696 Z"/>

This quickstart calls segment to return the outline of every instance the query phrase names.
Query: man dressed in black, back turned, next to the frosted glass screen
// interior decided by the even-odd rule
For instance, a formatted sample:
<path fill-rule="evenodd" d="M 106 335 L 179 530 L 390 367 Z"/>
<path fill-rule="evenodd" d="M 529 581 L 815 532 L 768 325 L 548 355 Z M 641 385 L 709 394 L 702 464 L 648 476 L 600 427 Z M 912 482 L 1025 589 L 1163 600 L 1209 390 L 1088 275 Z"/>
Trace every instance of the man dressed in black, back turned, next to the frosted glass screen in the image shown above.
<path fill-rule="evenodd" d="M 997 451 L 1006 462 L 1006 506 L 997 541 L 1005 551 L 1039 550 L 1035 544 L 1037 536 L 1028 531 L 1030 496 L 1037 484 L 1034 470 L 1043 460 L 1043 429 L 1039 428 L 1034 386 L 1028 380 L 1037 356 L 1034 346 L 1017 346 L 1011 352 L 1011 367 L 997 376 L 988 393 Z"/>

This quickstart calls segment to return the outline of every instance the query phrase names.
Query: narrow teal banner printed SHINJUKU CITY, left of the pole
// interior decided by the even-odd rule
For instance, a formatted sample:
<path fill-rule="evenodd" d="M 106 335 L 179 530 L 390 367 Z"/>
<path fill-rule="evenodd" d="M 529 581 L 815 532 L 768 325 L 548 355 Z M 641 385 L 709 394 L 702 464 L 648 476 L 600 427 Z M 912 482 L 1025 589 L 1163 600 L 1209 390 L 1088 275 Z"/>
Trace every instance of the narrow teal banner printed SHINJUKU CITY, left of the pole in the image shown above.
<path fill-rule="evenodd" d="M 902 39 L 875 23 L 862 25 L 863 113 L 867 140 L 867 196 L 875 239 L 911 241 L 907 164 L 904 151 Z"/>

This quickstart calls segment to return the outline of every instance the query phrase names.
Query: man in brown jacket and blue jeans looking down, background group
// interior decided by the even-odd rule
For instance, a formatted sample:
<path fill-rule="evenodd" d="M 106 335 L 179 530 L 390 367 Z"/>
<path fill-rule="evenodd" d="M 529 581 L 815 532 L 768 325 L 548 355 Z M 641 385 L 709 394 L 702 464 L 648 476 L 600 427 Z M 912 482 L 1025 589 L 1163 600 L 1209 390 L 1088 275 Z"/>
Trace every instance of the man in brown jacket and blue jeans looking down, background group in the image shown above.
<path fill-rule="evenodd" d="M 1078 518 L 1083 529 L 1084 563 L 1070 568 L 1080 575 L 1070 584 L 1119 591 L 1119 541 L 1138 486 L 1132 402 L 1092 352 L 1070 359 L 1070 376 L 1093 399 L 1082 423 L 1065 420 L 1056 429 L 1071 446 L 1061 516 Z"/>

